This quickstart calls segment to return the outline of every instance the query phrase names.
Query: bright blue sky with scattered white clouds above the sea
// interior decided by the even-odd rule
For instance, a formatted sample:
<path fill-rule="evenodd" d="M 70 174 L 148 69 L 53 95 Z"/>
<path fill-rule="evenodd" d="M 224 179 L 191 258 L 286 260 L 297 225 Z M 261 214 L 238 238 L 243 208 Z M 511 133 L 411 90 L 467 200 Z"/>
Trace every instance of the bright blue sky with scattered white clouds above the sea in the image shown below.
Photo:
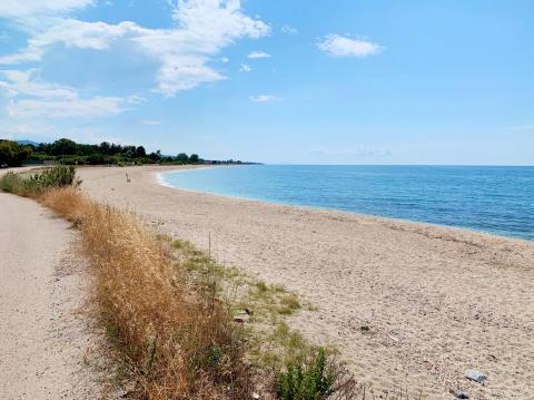
<path fill-rule="evenodd" d="M 531 0 L 1 0 L 0 137 L 534 165 Z"/>

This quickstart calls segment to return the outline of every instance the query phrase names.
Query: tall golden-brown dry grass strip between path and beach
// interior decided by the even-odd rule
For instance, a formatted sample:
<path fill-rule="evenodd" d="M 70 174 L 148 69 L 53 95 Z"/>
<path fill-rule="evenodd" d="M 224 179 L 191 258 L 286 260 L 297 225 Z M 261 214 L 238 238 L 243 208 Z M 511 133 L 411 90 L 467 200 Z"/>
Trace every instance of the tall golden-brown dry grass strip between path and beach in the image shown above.
<path fill-rule="evenodd" d="M 137 216 L 72 187 L 41 202 L 72 221 L 96 274 L 96 300 L 144 399 L 250 398 L 241 330 L 189 285 L 170 246 Z M 181 272 L 180 272 L 181 271 Z"/>

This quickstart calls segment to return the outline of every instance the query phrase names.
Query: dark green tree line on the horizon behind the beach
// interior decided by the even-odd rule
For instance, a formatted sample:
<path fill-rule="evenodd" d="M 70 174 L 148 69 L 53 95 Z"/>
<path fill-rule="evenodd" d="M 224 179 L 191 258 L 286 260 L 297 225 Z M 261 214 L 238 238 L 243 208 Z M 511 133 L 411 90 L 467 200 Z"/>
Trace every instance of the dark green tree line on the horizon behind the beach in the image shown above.
<path fill-rule="evenodd" d="M 141 165 L 141 164 L 201 164 L 197 155 L 180 153 L 164 156 L 160 150 L 147 153 L 142 146 L 123 146 L 102 142 L 99 145 L 78 144 L 59 139 L 39 145 L 21 145 L 0 139 L 0 166 L 17 167 L 21 164 L 56 162 L 66 165 Z M 211 162 L 217 163 L 217 162 Z"/>

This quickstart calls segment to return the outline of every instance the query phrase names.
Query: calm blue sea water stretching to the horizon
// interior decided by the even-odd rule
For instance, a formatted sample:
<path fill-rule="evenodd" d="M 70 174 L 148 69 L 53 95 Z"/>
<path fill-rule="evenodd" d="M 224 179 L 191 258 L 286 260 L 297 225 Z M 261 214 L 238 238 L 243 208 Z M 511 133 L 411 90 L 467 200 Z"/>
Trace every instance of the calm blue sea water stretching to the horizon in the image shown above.
<path fill-rule="evenodd" d="M 534 240 L 534 167 L 251 165 L 161 179 L 196 192 Z"/>

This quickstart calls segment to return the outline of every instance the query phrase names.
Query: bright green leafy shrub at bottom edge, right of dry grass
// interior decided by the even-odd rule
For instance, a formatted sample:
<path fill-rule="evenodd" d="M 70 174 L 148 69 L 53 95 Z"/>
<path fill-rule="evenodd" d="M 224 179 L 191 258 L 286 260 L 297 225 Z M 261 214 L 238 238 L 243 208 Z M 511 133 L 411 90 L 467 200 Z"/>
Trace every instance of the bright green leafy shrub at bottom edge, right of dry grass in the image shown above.
<path fill-rule="evenodd" d="M 323 400 L 334 393 L 335 365 L 328 362 L 325 349 L 286 363 L 278 373 L 277 391 L 281 400 Z"/>

